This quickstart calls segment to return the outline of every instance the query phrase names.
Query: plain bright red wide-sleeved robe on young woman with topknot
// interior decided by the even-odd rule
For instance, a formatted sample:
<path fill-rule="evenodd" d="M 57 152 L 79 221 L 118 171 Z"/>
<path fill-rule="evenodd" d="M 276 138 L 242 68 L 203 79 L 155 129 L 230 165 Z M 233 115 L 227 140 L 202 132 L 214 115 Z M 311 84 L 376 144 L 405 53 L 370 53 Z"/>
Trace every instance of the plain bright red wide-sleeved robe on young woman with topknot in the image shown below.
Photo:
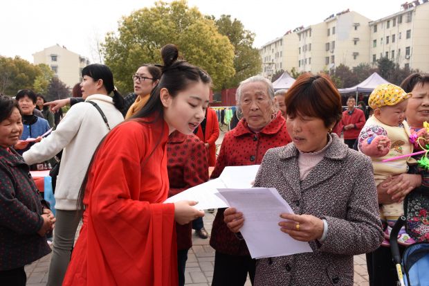
<path fill-rule="evenodd" d="M 163 119 L 127 121 L 108 134 L 86 184 L 84 224 L 63 285 L 177 285 L 174 204 L 162 204 L 167 137 Z"/>

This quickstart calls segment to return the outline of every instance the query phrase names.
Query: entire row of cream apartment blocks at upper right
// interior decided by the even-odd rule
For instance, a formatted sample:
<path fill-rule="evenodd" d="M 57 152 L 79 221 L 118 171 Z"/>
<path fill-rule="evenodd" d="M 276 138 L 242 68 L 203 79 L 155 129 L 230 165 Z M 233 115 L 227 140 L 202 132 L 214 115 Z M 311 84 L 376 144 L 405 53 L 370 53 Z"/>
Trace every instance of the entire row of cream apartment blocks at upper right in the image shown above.
<path fill-rule="evenodd" d="M 345 10 L 262 46 L 261 74 L 271 78 L 280 69 L 319 73 L 332 72 L 340 64 L 376 66 L 381 57 L 401 68 L 429 72 L 428 30 L 428 0 L 405 3 L 400 12 L 376 21 Z"/>

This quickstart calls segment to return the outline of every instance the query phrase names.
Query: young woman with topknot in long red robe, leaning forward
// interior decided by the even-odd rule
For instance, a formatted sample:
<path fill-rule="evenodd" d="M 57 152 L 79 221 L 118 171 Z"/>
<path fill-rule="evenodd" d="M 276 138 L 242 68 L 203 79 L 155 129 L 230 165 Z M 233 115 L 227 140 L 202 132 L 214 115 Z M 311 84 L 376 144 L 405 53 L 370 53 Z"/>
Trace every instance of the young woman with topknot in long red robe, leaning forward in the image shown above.
<path fill-rule="evenodd" d="M 163 75 L 145 107 L 111 130 L 82 184 L 83 226 L 63 285 L 177 285 L 175 222 L 204 215 L 167 198 L 168 135 L 192 134 L 208 106 L 210 76 L 161 50 Z"/>

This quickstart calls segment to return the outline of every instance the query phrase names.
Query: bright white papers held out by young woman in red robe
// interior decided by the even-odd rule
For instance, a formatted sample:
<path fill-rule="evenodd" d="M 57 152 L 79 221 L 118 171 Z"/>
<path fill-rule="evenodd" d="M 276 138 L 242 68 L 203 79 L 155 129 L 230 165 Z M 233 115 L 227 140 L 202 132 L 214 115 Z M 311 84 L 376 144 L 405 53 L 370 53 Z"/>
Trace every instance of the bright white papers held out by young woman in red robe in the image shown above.
<path fill-rule="evenodd" d="M 169 197 L 164 203 L 174 203 L 183 200 L 197 201 L 194 206 L 199 210 L 208 208 L 226 208 L 227 205 L 219 197 L 218 188 L 250 188 L 255 181 L 259 165 L 226 167 L 221 176 L 206 183 L 188 188 L 182 193 Z"/>

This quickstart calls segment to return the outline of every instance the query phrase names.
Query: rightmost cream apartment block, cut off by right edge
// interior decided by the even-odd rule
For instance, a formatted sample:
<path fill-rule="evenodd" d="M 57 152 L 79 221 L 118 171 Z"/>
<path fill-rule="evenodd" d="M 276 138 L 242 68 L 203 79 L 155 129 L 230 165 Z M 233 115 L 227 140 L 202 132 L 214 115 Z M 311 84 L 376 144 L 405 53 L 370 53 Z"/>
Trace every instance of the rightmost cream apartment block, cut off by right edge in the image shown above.
<path fill-rule="evenodd" d="M 401 68 L 429 71 L 429 3 L 428 0 L 404 3 L 401 11 L 369 22 L 370 57 L 388 57 Z"/>

